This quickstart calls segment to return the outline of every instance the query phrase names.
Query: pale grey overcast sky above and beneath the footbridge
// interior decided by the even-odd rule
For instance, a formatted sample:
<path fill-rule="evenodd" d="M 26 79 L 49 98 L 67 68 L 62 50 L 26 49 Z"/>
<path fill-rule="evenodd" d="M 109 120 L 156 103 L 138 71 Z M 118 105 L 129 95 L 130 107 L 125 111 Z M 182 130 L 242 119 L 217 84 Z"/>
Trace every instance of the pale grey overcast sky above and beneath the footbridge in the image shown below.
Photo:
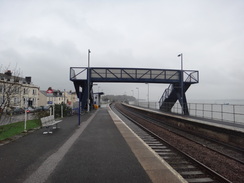
<path fill-rule="evenodd" d="M 243 0 L 0 0 L 0 64 L 46 90 L 74 90 L 70 67 L 198 70 L 188 99 L 244 99 Z M 145 84 L 99 84 L 147 98 Z M 94 86 L 94 91 L 98 90 Z M 158 101 L 168 87 L 150 84 Z"/>

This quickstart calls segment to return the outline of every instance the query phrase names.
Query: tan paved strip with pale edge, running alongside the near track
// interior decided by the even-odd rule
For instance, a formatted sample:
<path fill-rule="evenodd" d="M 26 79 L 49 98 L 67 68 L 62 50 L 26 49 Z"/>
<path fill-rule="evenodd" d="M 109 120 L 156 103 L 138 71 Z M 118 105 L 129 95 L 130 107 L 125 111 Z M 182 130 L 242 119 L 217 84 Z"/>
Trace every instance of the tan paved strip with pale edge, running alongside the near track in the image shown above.
<path fill-rule="evenodd" d="M 142 167 L 154 183 L 182 183 L 185 181 L 171 166 L 160 158 L 129 127 L 108 108 L 111 118 L 130 146 Z"/>

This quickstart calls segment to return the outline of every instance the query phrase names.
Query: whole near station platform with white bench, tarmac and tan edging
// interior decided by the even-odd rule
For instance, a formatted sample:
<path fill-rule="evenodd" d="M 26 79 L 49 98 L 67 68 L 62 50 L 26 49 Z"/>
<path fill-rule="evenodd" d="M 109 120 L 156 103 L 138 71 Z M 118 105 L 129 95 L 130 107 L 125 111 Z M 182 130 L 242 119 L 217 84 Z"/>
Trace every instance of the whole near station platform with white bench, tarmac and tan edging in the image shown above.
<path fill-rule="evenodd" d="M 0 182 L 184 182 L 109 108 L 0 145 Z"/>

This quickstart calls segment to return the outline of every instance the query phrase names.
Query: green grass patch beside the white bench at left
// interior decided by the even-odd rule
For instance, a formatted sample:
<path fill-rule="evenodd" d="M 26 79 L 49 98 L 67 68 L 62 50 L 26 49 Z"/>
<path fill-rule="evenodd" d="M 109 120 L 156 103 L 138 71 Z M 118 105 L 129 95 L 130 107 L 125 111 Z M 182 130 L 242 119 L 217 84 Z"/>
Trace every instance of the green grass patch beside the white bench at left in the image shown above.
<path fill-rule="evenodd" d="M 40 120 L 34 119 L 26 122 L 26 130 L 40 126 Z M 4 140 L 24 132 L 24 121 L 0 126 L 0 140 Z"/>

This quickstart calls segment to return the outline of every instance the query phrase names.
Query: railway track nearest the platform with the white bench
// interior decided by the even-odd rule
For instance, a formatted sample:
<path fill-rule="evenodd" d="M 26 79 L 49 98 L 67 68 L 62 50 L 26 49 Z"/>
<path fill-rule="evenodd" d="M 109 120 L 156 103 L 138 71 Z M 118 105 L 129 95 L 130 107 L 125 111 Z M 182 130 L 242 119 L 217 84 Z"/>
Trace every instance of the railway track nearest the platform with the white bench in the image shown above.
<path fill-rule="evenodd" d="M 133 123 L 127 121 L 127 125 L 187 182 L 231 182 L 177 147 L 172 146 L 170 142 L 149 130 L 145 125 L 142 125 L 142 123 L 148 123 L 144 117 L 138 117 L 138 115 L 119 104 L 112 108 L 129 119 L 129 121 L 132 121 Z"/>

